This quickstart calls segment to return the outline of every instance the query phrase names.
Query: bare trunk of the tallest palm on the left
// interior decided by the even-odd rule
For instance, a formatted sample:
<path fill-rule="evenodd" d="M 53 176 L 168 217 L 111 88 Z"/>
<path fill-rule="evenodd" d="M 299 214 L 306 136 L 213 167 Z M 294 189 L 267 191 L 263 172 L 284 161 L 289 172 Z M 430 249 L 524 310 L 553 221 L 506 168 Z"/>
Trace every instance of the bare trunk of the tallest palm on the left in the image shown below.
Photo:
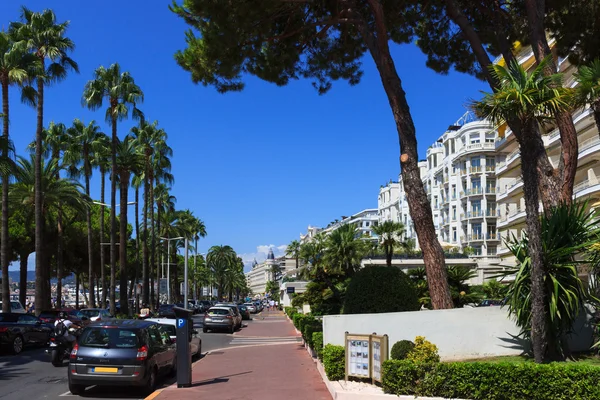
<path fill-rule="evenodd" d="M 45 68 L 41 58 L 41 68 Z M 48 293 L 48 266 L 44 265 L 44 203 L 42 193 L 42 133 L 44 130 L 44 80 L 37 80 L 37 125 L 35 131 L 35 313 L 40 315 L 43 310 L 51 307 Z"/>

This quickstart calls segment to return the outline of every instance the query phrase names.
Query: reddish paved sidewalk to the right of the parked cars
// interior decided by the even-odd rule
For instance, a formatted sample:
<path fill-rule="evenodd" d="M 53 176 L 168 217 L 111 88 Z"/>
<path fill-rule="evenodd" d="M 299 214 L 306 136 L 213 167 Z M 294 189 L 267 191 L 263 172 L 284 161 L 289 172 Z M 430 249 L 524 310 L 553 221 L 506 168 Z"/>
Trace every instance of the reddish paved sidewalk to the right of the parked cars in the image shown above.
<path fill-rule="evenodd" d="M 195 363 L 192 387 L 178 389 L 175 384 L 154 398 L 331 400 L 315 363 L 281 311 L 254 316 L 235 336 L 252 344 L 210 352 Z"/>

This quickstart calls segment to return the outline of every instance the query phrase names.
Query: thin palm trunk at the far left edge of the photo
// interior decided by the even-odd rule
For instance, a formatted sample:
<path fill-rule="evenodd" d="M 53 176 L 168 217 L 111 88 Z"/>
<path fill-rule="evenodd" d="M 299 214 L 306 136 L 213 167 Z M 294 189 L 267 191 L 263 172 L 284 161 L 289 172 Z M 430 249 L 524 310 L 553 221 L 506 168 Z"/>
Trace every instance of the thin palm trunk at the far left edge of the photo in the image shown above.
<path fill-rule="evenodd" d="M 8 157 L 8 77 L 2 77 L 2 136 L 6 148 L 2 149 L 2 157 Z M 8 285 L 8 266 L 10 264 L 8 236 L 8 174 L 2 175 L 2 229 L 0 233 L 0 258 L 2 263 L 2 312 L 10 312 L 10 287 Z"/>

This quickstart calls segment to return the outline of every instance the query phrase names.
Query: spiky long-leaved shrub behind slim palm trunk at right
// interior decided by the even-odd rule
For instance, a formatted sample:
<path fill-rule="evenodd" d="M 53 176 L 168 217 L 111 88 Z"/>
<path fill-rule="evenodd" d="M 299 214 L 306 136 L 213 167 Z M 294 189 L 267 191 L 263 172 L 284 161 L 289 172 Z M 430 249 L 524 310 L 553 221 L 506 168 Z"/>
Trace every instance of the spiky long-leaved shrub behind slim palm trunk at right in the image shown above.
<path fill-rule="evenodd" d="M 587 203 L 562 204 L 542 217 L 544 315 L 549 335 L 546 358 L 564 359 L 569 355 L 565 335 L 571 332 L 584 302 L 597 301 L 578 276 L 580 265 L 590 262 L 600 265 L 600 257 L 590 251 L 600 236 L 595 219 L 596 214 L 587 211 Z M 531 338 L 532 265 L 528 237 L 524 236 L 521 240 L 513 237 L 508 247 L 518 264 L 504 272 L 505 275 L 515 274 L 514 282 L 509 284 L 506 305 L 522 335 Z"/>

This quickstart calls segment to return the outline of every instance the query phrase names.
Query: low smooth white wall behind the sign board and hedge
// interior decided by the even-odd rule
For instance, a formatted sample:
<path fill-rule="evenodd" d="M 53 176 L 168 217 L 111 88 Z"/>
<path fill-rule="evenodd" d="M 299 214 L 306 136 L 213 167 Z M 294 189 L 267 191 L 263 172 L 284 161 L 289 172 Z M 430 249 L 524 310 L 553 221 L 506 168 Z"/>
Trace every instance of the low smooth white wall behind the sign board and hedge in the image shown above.
<path fill-rule="evenodd" d="M 571 340 L 571 349 L 589 349 L 589 329 L 582 324 L 575 329 L 580 335 Z M 343 346 L 344 332 L 387 334 L 390 349 L 399 340 L 414 341 L 416 336 L 425 336 L 437 345 L 442 360 L 521 354 L 526 343 L 516 338 L 519 331 L 500 307 L 323 317 L 325 344 Z"/>

